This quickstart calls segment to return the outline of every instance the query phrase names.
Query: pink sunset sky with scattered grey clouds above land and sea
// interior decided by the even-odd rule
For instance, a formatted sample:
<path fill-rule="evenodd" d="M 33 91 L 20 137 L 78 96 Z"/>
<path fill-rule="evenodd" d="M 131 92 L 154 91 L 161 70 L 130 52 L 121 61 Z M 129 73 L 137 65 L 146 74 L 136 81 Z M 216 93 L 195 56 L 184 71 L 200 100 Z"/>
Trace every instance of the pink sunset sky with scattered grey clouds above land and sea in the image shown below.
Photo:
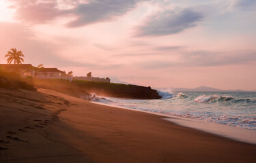
<path fill-rule="evenodd" d="M 256 90 L 255 0 L 0 0 L 0 63 L 153 88 Z"/>

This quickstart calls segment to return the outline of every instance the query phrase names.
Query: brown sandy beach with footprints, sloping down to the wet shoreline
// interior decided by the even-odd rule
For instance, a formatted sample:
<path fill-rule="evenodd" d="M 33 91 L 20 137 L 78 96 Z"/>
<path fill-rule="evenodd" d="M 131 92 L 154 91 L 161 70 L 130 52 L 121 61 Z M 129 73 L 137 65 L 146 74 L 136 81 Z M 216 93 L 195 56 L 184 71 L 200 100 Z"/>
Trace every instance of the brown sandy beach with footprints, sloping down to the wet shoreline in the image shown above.
<path fill-rule="evenodd" d="M 0 88 L 0 162 L 256 162 L 256 145 L 53 90 Z"/>

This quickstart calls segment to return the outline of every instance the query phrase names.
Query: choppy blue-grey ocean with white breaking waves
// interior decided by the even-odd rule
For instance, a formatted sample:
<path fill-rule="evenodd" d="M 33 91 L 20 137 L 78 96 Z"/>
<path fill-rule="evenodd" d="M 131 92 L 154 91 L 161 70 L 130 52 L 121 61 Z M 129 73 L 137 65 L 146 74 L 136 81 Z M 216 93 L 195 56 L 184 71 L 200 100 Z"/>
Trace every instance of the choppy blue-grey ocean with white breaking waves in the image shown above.
<path fill-rule="evenodd" d="M 94 96 L 92 101 L 115 107 L 176 115 L 256 130 L 256 92 L 179 92 L 158 90 L 159 100 Z"/>

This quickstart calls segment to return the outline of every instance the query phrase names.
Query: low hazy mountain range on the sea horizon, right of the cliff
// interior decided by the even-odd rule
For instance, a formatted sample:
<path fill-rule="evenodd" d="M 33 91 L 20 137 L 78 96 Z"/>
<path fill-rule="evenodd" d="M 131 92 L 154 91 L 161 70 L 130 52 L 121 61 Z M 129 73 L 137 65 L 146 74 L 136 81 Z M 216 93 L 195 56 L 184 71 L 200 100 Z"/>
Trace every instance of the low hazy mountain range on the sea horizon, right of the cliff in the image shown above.
<path fill-rule="evenodd" d="M 244 92 L 244 90 L 220 90 L 217 88 L 200 86 L 197 88 L 156 88 L 157 90 L 168 90 L 171 92 Z"/>

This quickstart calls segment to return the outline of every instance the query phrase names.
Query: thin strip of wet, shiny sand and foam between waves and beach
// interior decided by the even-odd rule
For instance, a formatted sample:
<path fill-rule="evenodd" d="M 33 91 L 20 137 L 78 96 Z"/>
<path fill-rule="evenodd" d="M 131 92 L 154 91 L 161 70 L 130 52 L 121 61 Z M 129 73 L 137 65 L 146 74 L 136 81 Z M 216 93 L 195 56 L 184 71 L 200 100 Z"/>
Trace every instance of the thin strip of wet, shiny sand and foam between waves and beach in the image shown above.
<path fill-rule="evenodd" d="M 98 105 L 105 105 L 109 107 L 117 107 L 119 109 L 128 109 L 132 111 L 139 111 L 143 113 L 150 113 L 154 115 L 162 116 L 162 120 L 167 120 L 169 122 L 173 122 L 179 126 L 185 126 L 188 128 L 193 128 L 196 130 L 201 130 L 203 132 L 208 132 L 210 134 L 216 134 L 220 137 L 225 137 L 227 139 L 231 139 L 234 141 L 241 141 L 244 143 L 251 143 L 256 145 L 256 130 L 249 130 L 246 128 L 238 128 L 236 126 L 229 126 L 226 124 L 218 124 L 215 122 L 208 122 L 204 120 L 197 120 L 188 117 L 180 117 L 177 115 L 168 115 L 162 113 L 154 113 L 150 111 L 142 111 L 139 109 L 130 109 L 126 107 L 119 107 L 115 105 L 109 105 L 104 103 L 98 103 L 94 101 L 90 101 L 91 103 L 95 103 Z"/>

